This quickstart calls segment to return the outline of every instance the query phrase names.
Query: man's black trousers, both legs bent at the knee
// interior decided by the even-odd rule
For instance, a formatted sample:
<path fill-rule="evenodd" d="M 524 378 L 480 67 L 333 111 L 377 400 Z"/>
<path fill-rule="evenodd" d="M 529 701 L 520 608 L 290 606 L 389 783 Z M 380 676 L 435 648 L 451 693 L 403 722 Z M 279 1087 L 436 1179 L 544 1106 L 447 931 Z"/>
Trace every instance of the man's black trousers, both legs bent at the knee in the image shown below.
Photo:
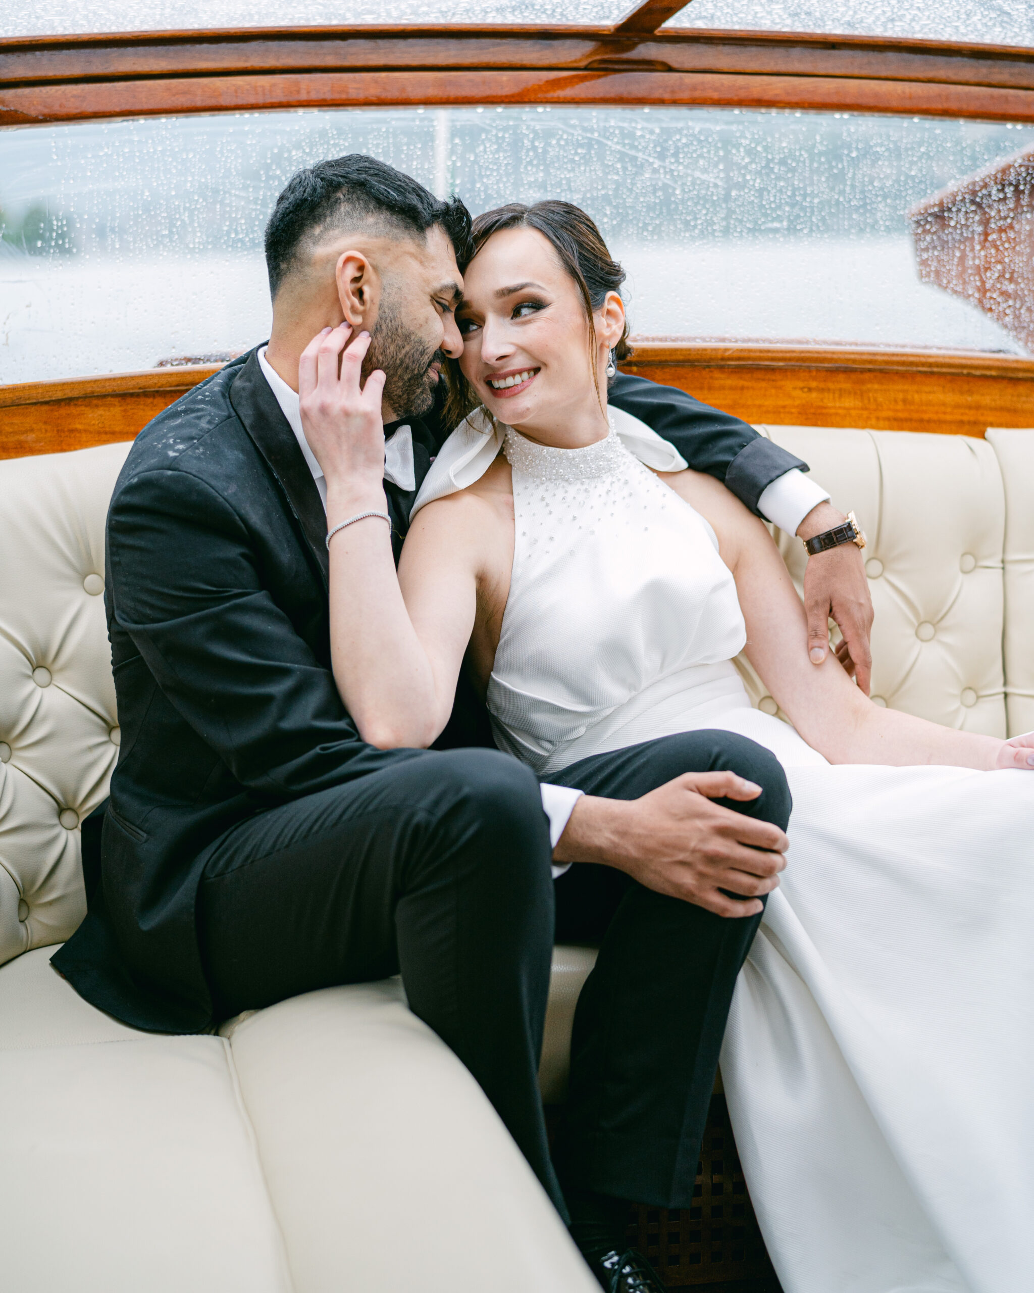
<path fill-rule="evenodd" d="M 764 786 L 760 800 L 729 806 L 785 826 L 782 769 L 730 733 L 664 737 L 556 780 L 635 798 L 680 772 L 729 767 Z M 401 971 L 414 1012 L 480 1082 L 564 1214 L 538 1091 L 554 886 L 531 772 L 496 750 L 428 751 L 258 813 L 207 852 L 196 918 L 218 1012 Z M 576 1018 L 565 1177 L 682 1206 L 757 922 L 711 917 L 609 868 L 574 866 L 556 890 L 561 937 L 602 939 Z M 600 1029 L 606 1036 L 595 1040 Z M 602 1081 L 589 1072 L 593 1046 Z M 680 1153 L 685 1135 L 695 1143 Z"/>

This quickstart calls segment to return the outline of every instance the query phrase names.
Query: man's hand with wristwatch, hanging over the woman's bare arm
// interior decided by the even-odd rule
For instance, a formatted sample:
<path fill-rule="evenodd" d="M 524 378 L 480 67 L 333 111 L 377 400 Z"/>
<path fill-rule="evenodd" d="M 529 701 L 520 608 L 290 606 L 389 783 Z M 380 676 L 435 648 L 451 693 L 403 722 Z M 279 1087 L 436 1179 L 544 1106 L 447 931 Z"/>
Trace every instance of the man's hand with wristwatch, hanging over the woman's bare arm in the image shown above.
<path fill-rule="evenodd" d="M 812 539 L 823 530 L 844 525 L 847 517 L 830 503 L 819 503 L 797 526 L 797 537 Z M 841 543 L 828 552 L 808 557 L 804 570 L 804 609 L 808 613 L 808 656 L 821 665 L 830 649 L 830 619 L 844 635 L 836 650 L 844 668 L 858 680 L 869 696 L 872 679 L 872 597 L 865 575 L 862 550 L 854 543 Z"/>

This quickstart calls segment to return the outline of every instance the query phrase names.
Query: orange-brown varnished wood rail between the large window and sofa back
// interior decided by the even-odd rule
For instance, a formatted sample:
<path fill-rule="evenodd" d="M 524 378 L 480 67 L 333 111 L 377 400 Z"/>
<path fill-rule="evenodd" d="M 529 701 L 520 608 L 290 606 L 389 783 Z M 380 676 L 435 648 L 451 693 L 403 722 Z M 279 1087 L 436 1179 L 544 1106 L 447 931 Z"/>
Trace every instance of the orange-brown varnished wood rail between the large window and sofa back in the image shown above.
<path fill-rule="evenodd" d="M 635 339 L 622 365 L 752 423 L 982 436 L 1034 427 L 1034 359 Z M 0 387 L 0 458 L 132 440 L 217 365 Z"/>

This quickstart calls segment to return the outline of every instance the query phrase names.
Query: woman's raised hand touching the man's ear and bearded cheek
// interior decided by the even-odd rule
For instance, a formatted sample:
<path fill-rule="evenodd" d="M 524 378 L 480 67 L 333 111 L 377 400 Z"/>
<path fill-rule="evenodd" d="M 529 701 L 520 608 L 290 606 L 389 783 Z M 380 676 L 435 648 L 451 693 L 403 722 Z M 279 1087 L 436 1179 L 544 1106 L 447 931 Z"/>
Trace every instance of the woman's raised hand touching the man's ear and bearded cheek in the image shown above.
<path fill-rule="evenodd" d="M 383 507 L 385 376 L 377 369 L 359 387 L 370 334 L 361 332 L 345 348 L 350 332 L 348 323 L 324 327 L 301 352 L 301 427 L 327 477 L 328 494 L 344 487 L 357 506 Z"/>

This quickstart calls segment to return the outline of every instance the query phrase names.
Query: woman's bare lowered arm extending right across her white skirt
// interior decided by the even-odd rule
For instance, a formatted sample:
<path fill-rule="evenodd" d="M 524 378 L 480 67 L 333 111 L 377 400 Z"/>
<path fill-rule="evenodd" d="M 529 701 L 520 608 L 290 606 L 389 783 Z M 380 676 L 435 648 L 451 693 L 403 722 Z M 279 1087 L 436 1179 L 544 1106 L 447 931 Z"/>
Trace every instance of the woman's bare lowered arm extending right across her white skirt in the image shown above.
<path fill-rule="evenodd" d="M 831 763 L 1028 768 L 1030 746 L 955 732 L 874 705 L 834 656 L 808 659 L 808 621 L 779 551 L 761 521 L 710 476 L 660 476 L 704 516 L 735 578 L 747 658 L 804 740 Z"/>

